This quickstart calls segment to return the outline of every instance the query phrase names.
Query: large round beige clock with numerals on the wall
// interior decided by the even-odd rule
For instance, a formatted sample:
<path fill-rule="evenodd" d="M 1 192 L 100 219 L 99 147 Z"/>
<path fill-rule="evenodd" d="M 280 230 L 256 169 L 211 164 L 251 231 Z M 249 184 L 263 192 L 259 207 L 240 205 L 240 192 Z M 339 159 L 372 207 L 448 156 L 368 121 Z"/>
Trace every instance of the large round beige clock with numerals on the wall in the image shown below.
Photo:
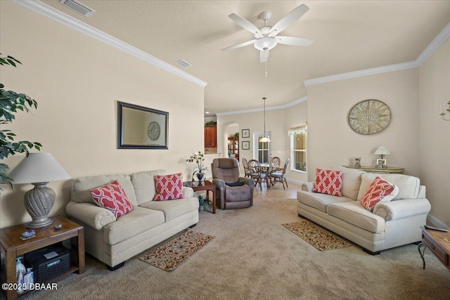
<path fill-rule="evenodd" d="M 359 134 L 375 134 L 383 131 L 391 121 L 391 110 L 380 100 L 364 100 L 349 111 L 350 127 Z"/>

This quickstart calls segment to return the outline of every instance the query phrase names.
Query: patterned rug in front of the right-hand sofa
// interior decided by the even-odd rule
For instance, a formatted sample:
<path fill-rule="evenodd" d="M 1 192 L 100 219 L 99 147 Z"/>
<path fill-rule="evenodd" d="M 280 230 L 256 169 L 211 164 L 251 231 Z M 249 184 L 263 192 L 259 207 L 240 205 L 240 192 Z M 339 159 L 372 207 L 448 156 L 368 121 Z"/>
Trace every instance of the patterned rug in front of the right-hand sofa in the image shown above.
<path fill-rule="evenodd" d="M 352 246 L 349 242 L 340 239 L 331 233 L 326 232 L 322 228 L 314 225 L 309 221 L 300 221 L 295 223 L 283 224 L 285 228 L 301 237 L 303 240 L 309 242 L 312 246 L 320 251 L 339 249 Z"/>

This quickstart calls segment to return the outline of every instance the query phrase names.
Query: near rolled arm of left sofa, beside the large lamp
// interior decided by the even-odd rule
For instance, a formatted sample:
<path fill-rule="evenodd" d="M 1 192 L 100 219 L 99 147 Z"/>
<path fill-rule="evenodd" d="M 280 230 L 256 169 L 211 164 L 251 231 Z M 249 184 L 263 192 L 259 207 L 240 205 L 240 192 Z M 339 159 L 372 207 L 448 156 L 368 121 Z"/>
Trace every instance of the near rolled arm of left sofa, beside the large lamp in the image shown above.
<path fill-rule="evenodd" d="M 69 201 L 65 207 L 65 213 L 96 230 L 101 230 L 104 226 L 116 221 L 112 211 L 91 203 Z"/>

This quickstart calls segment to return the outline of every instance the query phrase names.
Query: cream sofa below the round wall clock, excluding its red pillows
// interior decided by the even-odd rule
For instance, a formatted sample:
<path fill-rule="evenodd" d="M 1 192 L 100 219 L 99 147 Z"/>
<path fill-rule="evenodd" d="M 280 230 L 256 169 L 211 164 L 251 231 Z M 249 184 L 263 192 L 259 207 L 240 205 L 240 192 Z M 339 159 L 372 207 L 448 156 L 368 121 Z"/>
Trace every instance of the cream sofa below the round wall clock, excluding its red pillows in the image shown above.
<path fill-rule="evenodd" d="M 312 192 L 314 183 L 303 183 L 297 192 L 297 213 L 363 247 L 369 254 L 420 241 L 421 229 L 431 209 L 425 186 L 413 176 L 371 174 L 345 167 L 342 197 Z M 378 202 L 373 211 L 359 200 L 376 176 L 397 185 L 399 193 L 390 202 Z"/>

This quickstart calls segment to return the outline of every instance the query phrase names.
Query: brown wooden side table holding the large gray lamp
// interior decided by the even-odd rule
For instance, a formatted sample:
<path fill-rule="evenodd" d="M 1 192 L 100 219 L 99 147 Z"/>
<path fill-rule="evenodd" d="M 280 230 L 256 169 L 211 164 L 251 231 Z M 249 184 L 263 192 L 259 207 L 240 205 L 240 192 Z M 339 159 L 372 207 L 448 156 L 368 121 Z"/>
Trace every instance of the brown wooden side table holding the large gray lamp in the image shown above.
<path fill-rule="evenodd" d="M 17 256 L 23 256 L 23 254 L 32 252 L 33 250 L 63 242 L 72 237 L 77 238 L 77 259 L 72 262 L 72 267 L 68 272 L 58 275 L 51 281 L 74 272 L 79 274 L 84 273 L 83 226 L 80 226 L 63 216 L 55 216 L 51 219 L 53 219 L 53 224 L 43 228 L 34 229 L 36 236 L 28 240 L 20 240 L 20 235 L 28 230 L 26 224 L 0 229 L 0 253 L 5 257 L 5 268 L 2 270 L 2 272 L 4 272 L 2 278 L 5 278 L 5 281 L 2 280 L 1 283 L 6 282 L 7 284 L 13 284 L 17 282 L 15 278 L 15 258 Z M 63 227 L 59 230 L 54 229 L 53 226 L 58 224 L 61 224 Z M 4 291 L 3 287 L 2 290 Z M 22 294 L 19 294 L 19 296 L 26 293 L 27 291 L 24 291 Z M 17 299 L 17 297 L 18 294 L 15 289 L 6 289 L 6 299 Z"/>

